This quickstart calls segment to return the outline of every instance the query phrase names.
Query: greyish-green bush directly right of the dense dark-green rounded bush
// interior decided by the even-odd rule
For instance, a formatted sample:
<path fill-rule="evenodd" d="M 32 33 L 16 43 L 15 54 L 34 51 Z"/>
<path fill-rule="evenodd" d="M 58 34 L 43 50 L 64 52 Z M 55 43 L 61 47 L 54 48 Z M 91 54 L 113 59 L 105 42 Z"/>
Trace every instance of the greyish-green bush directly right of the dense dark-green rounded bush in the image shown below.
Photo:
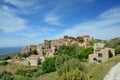
<path fill-rule="evenodd" d="M 61 55 L 61 56 L 57 56 L 56 57 L 56 61 L 55 61 L 55 67 L 56 67 L 56 69 L 59 69 L 60 68 L 60 66 L 64 63 L 64 62 L 66 62 L 66 61 L 68 61 L 70 59 L 70 56 L 68 56 L 67 54 L 63 54 L 63 55 Z"/>

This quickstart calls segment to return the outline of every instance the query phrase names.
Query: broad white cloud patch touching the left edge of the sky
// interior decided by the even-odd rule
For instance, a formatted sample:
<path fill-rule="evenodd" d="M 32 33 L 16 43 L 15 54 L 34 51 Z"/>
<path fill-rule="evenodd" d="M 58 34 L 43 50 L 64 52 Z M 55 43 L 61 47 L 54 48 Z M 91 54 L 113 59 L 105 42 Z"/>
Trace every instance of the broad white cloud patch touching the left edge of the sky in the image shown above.
<path fill-rule="evenodd" d="M 5 33 L 27 29 L 25 25 L 26 21 L 10 12 L 12 12 L 12 10 L 10 11 L 10 9 L 5 6 L 3 10 L 0 10 L 0 29 Z"/>

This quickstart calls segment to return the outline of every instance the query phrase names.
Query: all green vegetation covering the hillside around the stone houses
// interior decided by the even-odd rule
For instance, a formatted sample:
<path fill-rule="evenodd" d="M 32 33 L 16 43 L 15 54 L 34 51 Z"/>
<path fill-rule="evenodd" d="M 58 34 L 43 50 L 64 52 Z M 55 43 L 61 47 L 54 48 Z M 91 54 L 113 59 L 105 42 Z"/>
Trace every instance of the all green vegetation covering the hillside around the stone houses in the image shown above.
<path fill-rule="evenodd" d="M 79 40 L 79 39 L 78 39 Z M 82 41 L 82 40 L 81 40 Z M 104 42 L 106 47 L 115 48 L 116 54 L 120 54 L 120 39 L 110 41 L 95 40 Z M 120 56 L 109 59 L 101 64 L 90 65 L 84 60 L 93 53 L 93 48 L 83 48 L 77 45 L 60 46 L 57 56 L 46 58 L 37 66 L 23 66 L 6 61 L 0 62 L 0 80 L 103 80 L 110 68 L 120 62 Z M 28 57 L 37 54 L 36 50 L 25 54 L 18 54 L 20 57 Z M 9 59 L 4 58 L 4 60 Z"/>

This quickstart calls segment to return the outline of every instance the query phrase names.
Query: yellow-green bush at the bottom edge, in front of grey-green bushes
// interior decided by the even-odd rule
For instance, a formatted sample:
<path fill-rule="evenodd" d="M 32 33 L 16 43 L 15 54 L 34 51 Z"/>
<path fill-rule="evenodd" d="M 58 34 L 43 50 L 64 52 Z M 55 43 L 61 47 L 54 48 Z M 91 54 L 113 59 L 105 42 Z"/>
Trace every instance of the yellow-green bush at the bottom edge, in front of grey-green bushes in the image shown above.
<path fill-rule="evenodd" d="M 79 69 L 72 69 L 60 76 L 58 80 L 90 80 L 90 77 Z"/>

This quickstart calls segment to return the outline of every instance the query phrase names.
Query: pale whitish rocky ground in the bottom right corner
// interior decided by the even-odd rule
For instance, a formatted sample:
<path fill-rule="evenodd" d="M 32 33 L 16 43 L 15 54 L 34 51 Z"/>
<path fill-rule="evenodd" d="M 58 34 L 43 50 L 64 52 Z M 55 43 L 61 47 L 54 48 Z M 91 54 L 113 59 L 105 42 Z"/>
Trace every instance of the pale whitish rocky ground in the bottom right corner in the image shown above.
<path fill-rule="evenodd" d="M 120 62 L 111 68 L 104 80 L 120 80 Z"/>

